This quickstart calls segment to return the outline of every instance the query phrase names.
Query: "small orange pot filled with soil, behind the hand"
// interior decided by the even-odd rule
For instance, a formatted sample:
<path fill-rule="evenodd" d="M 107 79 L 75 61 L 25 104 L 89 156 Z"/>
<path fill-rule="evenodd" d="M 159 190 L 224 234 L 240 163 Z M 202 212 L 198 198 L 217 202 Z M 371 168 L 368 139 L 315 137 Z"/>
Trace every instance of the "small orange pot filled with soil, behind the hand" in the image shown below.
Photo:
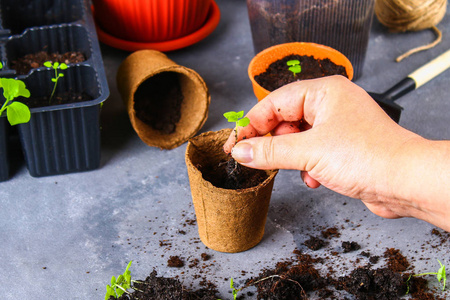
<path fill-rule="evenodd" d="M 288 62 L 300 71 L 291 71 Z M 291 82 L 324 76 L 342 75 L 353 78 L 350 61 L 339 51 L 314 43 L 286 43 L 267 48 L 250 62 L 248 76 L 258 100 Z"/>

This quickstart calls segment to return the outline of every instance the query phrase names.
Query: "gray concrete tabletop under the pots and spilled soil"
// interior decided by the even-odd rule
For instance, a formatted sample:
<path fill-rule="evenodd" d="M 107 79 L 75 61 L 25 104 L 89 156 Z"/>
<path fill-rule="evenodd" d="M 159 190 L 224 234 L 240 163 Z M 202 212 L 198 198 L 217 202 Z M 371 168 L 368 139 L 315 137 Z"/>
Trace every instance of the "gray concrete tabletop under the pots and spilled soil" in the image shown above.
<path fill-rule="evenodd" d="M 245 1 L 217 2 L 222 18 L 214 33 L 196 45 L 168 53 L 172 60 L 196 70 L 209 87 L 209 118 L 201 132 L 228 127 L 223 112 L 248 111 L 256 102 L 247 79 L 254 53 Z M 443 42 L 401 63 L 394 58 L 433 40 L 433 33 L 389 33 L 375 21 L 364 74 L 356 83 L 382 92 L 449 49 L 449 14 L 438 26 Z M 382 219 L 360 201 L 323 187 L 306 188 L 299 172 L 286 170 L 276 178 L 266 233 L 258 246 L 237 254 L 206 249 L 196 226 L 188 224 L 195 214 L 184 163 L 186 144 L 161 151 L 137 137 L 115 83 L 118 66 L 129 53 L 103 44 L 101 48 L 111 90 L 102 114 L 101 167 L 33 178 L 22 163 L 9 181 L 0 184 L 1 299 L 103 299 L 111 276 L 123 272 L 129 260 L 133 260 L 136 279 L 145 279 L 155 269 L 195 288 L 198 274 L 218 286 L 222 299 L 231 299 L 229 277 L 239 286 L 262 268 L 291 257 L 295 248 L 311 252 L 303 242 L 316 235 L 320 226 L 341 228 L 341 238 L 331 245 L 337 250 L 341 241 L 356 241 L 361 250 L 374 255 L 395 247 L 410 259 L 415 272 L 436 269 L 436 259 L 450 264 L 450 241 L 434 247 L 439 242 L 431 235 L 432 225 L 416 219 Z M 449 93 L 447 70 L 397 101 L 404 107 L 401 125 L 427 138 L 450 139 Z M 198 268 L 166 266 L 171 255 L 189 262 L 204 252 L 212 258 L 201 262 L 203 273 Z M 351 267 L 358 253 L 341 255 L 330 263 L 341 267 L 338 275 L 348 274 L 342 267 Z M 450 292 L 442 296 L 450 297 Z"/>

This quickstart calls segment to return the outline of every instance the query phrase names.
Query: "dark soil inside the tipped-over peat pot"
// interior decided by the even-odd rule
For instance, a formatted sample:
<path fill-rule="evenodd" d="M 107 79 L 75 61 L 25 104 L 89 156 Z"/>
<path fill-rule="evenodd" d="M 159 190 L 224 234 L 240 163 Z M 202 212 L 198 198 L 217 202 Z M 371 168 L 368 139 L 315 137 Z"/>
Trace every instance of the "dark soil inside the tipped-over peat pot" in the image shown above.
<path fill-rule="evenodd" d="M 134 94 L 136 116 L 163 134 L 175 132 L 184 96 L 178 75 L 163 72 L 143 82 Z"/>

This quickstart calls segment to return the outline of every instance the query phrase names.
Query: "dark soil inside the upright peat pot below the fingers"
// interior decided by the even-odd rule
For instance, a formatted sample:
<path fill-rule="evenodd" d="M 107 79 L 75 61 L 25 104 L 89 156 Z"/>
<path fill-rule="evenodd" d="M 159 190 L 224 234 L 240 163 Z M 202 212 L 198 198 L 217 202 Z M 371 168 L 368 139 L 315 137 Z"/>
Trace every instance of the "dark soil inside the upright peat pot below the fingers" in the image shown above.
<path fill-rule="evenodd" d="M 246 189 L 257 186 L 269 176 L 263 170 L 247 168 L 233 158 L 213 167 L 197 166 L 203 178 L 214 186 L 224 189 Z"/>

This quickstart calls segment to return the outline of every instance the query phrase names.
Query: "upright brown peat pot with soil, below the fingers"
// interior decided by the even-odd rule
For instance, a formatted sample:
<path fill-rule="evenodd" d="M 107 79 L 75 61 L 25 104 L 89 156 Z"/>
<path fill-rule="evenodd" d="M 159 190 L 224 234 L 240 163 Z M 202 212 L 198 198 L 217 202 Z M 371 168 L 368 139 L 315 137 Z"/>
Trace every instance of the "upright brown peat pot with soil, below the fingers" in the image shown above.
<path fill-rule="evenodd" d="M 241 252 L 263 235 L 278 170 L 236 165 L 223 151 L 231 129 L 189 140 L 186 166 L 202 242 L 220 252 Z"/>

